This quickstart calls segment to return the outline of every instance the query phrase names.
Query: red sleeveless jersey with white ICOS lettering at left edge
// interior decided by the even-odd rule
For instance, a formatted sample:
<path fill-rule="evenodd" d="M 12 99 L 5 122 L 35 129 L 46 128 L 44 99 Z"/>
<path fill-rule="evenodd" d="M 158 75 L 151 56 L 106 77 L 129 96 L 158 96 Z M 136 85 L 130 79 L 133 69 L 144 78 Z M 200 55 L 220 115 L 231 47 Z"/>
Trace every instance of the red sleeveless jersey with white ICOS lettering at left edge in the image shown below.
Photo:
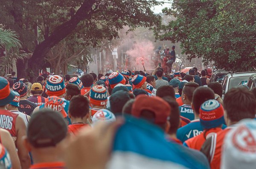
<path fill-rule="evenodd" d="M 17 133 L 15 128 L 16 119 L 18 114 L 10 112 L 8 110 L 0 110 L 0 127 L 8 130 L 14 141 L 17 139 Z"/>

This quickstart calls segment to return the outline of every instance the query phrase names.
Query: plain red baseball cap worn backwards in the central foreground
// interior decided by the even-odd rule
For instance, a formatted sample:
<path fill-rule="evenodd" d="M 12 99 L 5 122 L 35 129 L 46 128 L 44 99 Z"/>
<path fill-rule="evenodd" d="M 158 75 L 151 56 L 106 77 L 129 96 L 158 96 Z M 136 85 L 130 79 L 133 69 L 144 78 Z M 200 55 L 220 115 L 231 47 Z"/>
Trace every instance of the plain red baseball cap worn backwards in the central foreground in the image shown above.
<path fill-rule="evenodd" d="M 135 117 L 140 117 L 143 110 L 149 110 L 155 115 L 155 124 L 166 123 L 171 107 L 160 97 L 138 96 L 133 103 L 131 114 Z"/>

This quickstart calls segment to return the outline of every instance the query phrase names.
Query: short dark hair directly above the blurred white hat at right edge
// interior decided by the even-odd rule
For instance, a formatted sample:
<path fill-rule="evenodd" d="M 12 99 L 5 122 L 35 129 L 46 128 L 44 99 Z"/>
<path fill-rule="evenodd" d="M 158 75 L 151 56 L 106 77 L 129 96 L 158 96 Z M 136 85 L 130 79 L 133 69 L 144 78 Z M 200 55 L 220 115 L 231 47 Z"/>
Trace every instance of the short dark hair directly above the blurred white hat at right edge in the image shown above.
<path fill-rule="evenodd" d="M 256 98 L 249 90 L 232 88 L 225 94 L 223 103 L 227 117 L 233 122 L 255 118 Z"/>

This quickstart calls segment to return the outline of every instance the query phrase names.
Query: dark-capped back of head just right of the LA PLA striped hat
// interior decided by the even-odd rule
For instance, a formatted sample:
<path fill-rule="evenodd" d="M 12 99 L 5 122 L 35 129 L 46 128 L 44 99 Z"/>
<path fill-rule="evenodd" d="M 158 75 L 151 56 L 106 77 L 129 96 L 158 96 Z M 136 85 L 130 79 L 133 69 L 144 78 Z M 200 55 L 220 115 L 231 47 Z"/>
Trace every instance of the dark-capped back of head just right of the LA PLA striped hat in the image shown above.
<path fill-rule="evenodd" d="M 120 90 L 112 94 L 109 98 L 111 112 L 113 114 L 121 113 L 123 106 L 128 100 L 130 100 L 128 92 Z"/>

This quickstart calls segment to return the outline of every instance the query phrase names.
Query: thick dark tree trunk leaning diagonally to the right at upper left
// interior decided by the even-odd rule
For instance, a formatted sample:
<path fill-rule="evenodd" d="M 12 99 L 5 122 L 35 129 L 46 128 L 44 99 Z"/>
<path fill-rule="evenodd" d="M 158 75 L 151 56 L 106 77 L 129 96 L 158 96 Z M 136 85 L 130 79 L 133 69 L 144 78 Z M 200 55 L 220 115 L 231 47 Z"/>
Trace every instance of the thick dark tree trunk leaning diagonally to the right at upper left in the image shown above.
<path fill-rule="evenodd" d="M 51 49 L 53 46 L 67 37 L 67 35 L 69 35 L 74 29 L 76 29 L 76 26 L 81 20 L 90 18 L 93 12 L 91 9 L 95 2 L 96 0 L 84 0 L 83 4 L 70 20 L 56 27 L 49 37 L 36 46 L 32 57 L 29 59 L 29 69 L 32 69 L 34 73 L 38 71 L 35 68 L 40 67 L 41 62 L 49 49 Z M 37 66 L 34 66 L 34 64 Z M 32 82 L 35 81 L 35 78 L 36 77 L 31 79 Z"/>

